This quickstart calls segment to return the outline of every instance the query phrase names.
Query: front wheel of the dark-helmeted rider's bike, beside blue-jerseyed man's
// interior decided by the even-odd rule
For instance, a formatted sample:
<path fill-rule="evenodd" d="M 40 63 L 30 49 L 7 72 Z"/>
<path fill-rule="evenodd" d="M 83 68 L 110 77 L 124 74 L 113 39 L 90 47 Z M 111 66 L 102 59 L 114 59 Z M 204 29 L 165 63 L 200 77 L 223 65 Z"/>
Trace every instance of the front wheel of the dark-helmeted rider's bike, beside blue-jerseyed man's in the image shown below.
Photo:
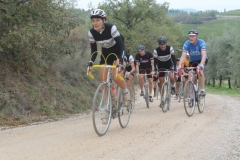
<path fill-rule="evenodd" d="M 160 102 L 160 107 L 162 108 L 162 111 L 165 113 L 169 109 L 170 105 L 170 97 L 171 94 L 169 93 L 169 88 L 170 85 L 167 82 L 164 82 L 162 85 L 162 90 L 161 90 L 161 102 Z"/>

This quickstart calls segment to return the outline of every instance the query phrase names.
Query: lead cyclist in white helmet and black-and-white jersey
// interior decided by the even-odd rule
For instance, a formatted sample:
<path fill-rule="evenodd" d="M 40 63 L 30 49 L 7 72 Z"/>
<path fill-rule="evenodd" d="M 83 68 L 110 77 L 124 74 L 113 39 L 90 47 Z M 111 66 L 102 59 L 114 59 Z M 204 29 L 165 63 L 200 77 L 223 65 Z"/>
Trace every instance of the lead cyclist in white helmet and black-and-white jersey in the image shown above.
<path fill-rule="evenodd" d="M 113 24 L 106 23 L 107 14 L 102 9 L 94 9 L 90 13 L 92 28 L 88 31 L 90 46 L 91 46 L 91 60 L 88 62 L 88 69 L 91 67 L 97 56 L 97 44 L 102 47 L 102 55 L 100 64 L 118 65 L 123 63 L 123 39 Z M 114 54 L 117 55 L 117 57 Z M 109 56 L 106 61 L 105 58 Z M 131 98 L 130 93 L 124 81 L 120 80 L 116 75 L 116 69 L 113 69 L 113 81 L 122 89 L 125 106 L 129 106 Z M 100 81 L 104 82 L 107 78 L 107 71 L 105 68 L 100 69 Z"/>

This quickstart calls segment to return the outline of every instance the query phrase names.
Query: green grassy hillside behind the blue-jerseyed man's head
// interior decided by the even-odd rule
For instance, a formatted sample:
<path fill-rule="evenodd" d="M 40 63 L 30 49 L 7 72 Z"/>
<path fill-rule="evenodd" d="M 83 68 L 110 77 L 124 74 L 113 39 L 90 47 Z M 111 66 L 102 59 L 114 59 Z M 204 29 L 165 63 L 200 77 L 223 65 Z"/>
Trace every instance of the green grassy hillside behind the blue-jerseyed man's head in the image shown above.
<path fill-rule="evenodd" d="M 219 19 L 203 24 L 180 24 L 181 31 L 187 35 L 191 29 L 199 32 L 199 38 L 207 40 L 211 35 L 222 36 L 227 25 L 240 29 L 239 19 Z"/>

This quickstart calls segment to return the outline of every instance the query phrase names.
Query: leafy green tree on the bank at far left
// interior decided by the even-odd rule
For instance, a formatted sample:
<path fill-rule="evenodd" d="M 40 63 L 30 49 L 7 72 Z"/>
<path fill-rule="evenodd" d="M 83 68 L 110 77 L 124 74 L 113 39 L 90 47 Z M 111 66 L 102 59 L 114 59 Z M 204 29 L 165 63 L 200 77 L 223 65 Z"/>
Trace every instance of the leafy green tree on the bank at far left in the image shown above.
<path fill-rule="evenodd" d="M 8 67 L 33 72 L 74 53 L 76 43 L 68 38 L 80 18 L 69 1 L 8 0 L 0 4 L 0 59 Z"/>

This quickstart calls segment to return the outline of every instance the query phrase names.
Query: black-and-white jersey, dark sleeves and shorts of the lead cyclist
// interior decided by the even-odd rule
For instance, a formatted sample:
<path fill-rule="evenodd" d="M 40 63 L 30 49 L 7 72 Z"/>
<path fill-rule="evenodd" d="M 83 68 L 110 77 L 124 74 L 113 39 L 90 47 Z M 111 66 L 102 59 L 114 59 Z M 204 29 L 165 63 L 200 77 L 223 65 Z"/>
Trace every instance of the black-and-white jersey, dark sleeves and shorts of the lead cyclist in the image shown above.
<path fill-rule="evenodd" d="M 94 62 L 96 59 L 97 44 L 102 47 L 100 64 L 107 63 L 112 65 L 113 61 L 117 58 L 120 59 L 120 62 L 122 61 L 124 44 L 115 25 L 104 23 L 104 30 L 101 32 L 92 28 L 88 32 L 88 37 L 91 45 L 91 53 L 93 54 L 91 61 Z M 111 53 L 116 54 L 117 57 Z M 111 55 L 108 57 L 109 54 Z"/>

